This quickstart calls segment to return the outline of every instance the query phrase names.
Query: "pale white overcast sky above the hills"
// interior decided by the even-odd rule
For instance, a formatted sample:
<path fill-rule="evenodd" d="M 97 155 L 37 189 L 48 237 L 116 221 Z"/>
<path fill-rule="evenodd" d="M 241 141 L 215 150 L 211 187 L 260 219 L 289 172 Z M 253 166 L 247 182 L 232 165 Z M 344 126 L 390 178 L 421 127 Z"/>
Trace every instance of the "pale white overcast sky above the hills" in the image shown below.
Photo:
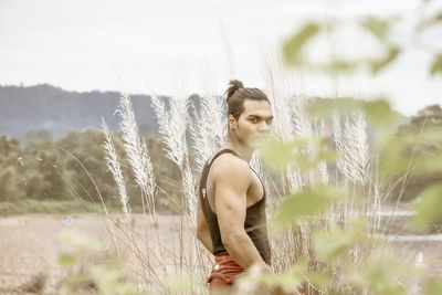
<path fill-rule="evenodd" d="M 69 91 L 221 95 L 230 78 L 269 89 L 269 69 L 295 94 L 387 96 L 411 115 L 442 103 L 442 76 L 431 77 L 430 52 L 442 51 L 442 29 L 412 38 L 419 15 L 442 4 L 420 0 L 0 0 L 0 84 L 49 83 Z M 307 48 L 307 56 L 377 52 L 355 25 L 361 15 L 399 15 L 394 42 L 407 51 L 372 77 L 295 71 L 277 57 L 281 44 L 309 20 L 346 24 Z M 442 27 L 442 25 L 439 25 Z M 423 45 L 422 45 L 423 44 Z M 430 49 L 430 50 L 429 50 Z M 286 86 L 287 83 L 291 85 Z"/>

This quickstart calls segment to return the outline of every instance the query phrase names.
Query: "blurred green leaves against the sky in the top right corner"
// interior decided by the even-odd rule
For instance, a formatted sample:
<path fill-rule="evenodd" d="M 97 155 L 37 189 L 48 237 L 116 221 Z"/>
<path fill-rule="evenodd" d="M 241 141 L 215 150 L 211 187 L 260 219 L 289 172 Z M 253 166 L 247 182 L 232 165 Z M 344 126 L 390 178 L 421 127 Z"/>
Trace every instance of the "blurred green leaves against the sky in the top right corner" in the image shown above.
<path fill-rule="evenodd" d="M 421 9 L 431 9 L 430 1 L 421 1 Z M 418 22 L 413 27 L 413 32 L 409 35 L 409 42 L 398 42 L 394 38 L 396 27 L 404 23 L 406 15 L 360 15 L 350 22 L 341 19 L 322 19 L 309 20 L 304 22 L 291 36 L 288 36 L 282 45 L 284 62 L 293 67 L 318 72 L 340 72 L 350 73 L 355 70 L 368 70 L 372 75 L 380 73 L 388 65 L 393 63 L 400 54 L 410 50 L 410 48 L 423 50 L 431 56 L 431 65 L 429 67 L 430 75 L 442 74 L 442 53 L 438 46 L 422 45 L 420 36 L 424 31 L 441 27 L 442 11 L 436 13 L 421 13 L 418 15 Z M 345 30 L 348 27 L 358 30 L 359 35 L 370 34 L 376 40 L 376 45 L 380 50 L 377 55 L 365 54 L 360 57 L 347 59 L 334 56 L 328 61 L 316 61 L 304 54 L 308 51 L 308 45 L 314 39 L 329 38 L 329 33 L 334 31 Z M 361 50 L 360 50 L 361 51 Z"/>

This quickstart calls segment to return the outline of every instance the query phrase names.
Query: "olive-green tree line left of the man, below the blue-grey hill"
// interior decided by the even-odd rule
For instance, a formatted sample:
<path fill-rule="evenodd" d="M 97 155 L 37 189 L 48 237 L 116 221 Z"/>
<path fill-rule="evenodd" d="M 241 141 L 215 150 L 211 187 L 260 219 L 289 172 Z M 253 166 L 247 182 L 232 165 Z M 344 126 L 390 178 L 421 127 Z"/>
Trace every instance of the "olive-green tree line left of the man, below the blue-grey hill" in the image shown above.
<path fill-rule="evenodd" d="M 119 131 L 112 135 L 119 154 L 133 207 L 141 204 L 139 188 L 124 154 Z M 181 191 L 180 173 L 164 156 L 159 138 L 145 138 L 160 188 L 157 209 L 173 210 Z M 53 140 L 48 130 L 29 133 L 23 140 L 0 136 L 0 201 L 78 199 L 118 207 L 115 180 L 106 168 L 103 133 L 70 130 Z M 99 191 L 99 193 L 98 193 Z"/>

